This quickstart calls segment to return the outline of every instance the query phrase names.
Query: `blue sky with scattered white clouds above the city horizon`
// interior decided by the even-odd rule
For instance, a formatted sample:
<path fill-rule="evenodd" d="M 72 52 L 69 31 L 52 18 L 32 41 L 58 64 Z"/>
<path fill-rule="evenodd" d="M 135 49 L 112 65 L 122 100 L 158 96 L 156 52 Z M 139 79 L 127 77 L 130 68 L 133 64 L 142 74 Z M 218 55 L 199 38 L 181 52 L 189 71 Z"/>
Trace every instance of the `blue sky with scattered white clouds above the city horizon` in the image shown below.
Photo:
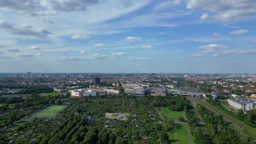
<path fill-rule="evenodd" d="M 0 0 L 0 73 L 256 73 L 255 0 Z"/>

